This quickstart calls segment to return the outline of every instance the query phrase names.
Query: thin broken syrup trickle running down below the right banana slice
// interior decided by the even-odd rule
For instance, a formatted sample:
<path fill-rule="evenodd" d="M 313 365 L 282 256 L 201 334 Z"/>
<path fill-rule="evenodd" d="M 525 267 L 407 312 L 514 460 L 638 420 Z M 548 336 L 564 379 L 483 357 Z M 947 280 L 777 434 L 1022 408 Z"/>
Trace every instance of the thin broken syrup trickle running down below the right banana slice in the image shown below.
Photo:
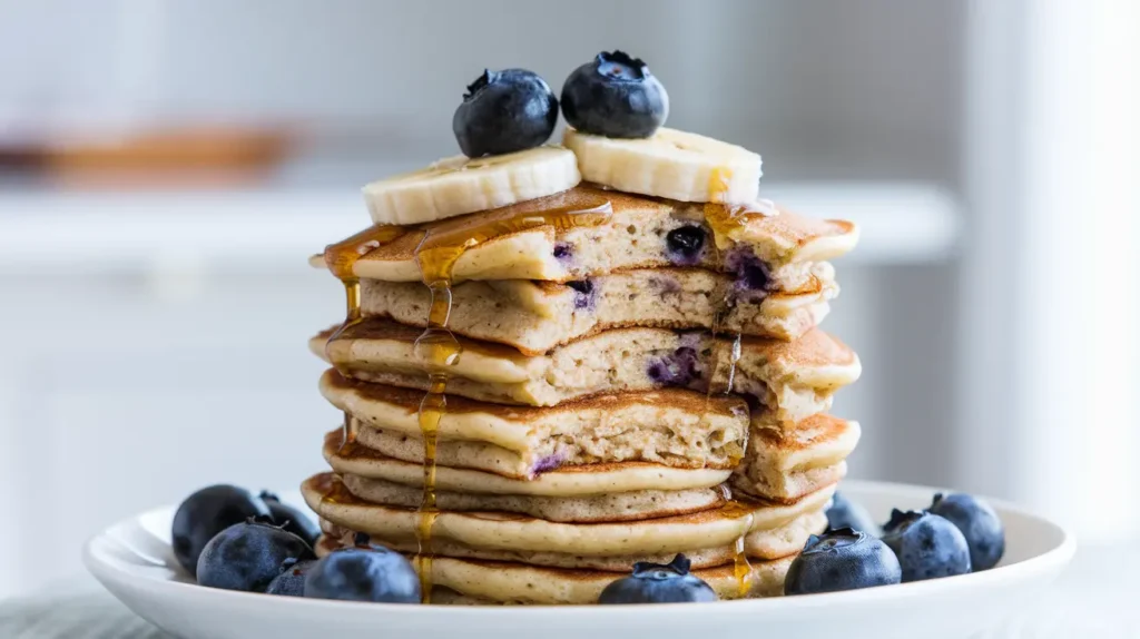
<path fill-rule="evenodd" d="M 727 167 L 716 167 L 709 175 L 709 200 L 705 205 L 705 221 L 708 223 L 709 228 L 712 229 L 712 237 L 715 245 L 718 249 L 727 248 L 732 245 L 734 236 L 740 234 L 748 223 L 756 216 L 763 215 L 764 213 L 750 210 L 747 206 L 732 205 L 724 202 L 724 196 L 728 191 L 728 180 L 732 178 L 732 170 Z M 712 314 L 712 338 L 716 339 L 717 335 L 722 328 L 722 321 L 724 317 L 728 313 L 728 301 L 727 298 L 720 300 L 717 304 L 717 309 Z M 714 372 L 709 376 L 709 388 L 708 396 L 706 398 L 706 407 L 710 401 L 712 393 L 718 392 L 714 388 L 712 378 L 716 376 L 716 371 L 720 369 L 720 351 L 714 346 L 717 353 L 717 361 L 714 363 Z M 736 377 L 736 362 L 740 361 L 741 355 L 741 334 L 740 331 L 733 337 L 732 347 L 728 351 L 728 371 L 727 380 L 725 384 L 723 393 L 731 393 L 733 384 Z M 706 409 L 707 412 L 707 409 Z M 741 517 L 741 533 L 736 538 L 736 543 L 733 548 L 733 575 L 736 577 L 736 588 L 740 592 L 740 597 L 744 598 L 748 596 L 748 591 L 751 589 L 752 581 L 752 566 L 748 563 L 748 552 L 746 549 L 746 538 L 749 531 L 752 529 L 752 522 L 755 521 L 755 514 L 752 509 L 746 503 L 736 500 L 732 495 L 732 489 L 727 484 L 722 484 L 722 493 L 730 505 L 728 510 L 739 513 Z"/>

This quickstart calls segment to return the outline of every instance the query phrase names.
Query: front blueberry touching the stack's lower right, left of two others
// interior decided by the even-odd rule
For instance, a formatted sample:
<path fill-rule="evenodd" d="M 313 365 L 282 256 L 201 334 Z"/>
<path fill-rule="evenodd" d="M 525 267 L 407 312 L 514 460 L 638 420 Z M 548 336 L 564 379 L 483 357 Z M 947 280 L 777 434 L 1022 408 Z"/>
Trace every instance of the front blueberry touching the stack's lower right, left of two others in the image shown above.
<path fill-rule="evenodd" d="M 784 577 L 784 595 L 837 592 L 902 580 L 898 559 L 886 543 L 852 529 L 812 535 Z"/>

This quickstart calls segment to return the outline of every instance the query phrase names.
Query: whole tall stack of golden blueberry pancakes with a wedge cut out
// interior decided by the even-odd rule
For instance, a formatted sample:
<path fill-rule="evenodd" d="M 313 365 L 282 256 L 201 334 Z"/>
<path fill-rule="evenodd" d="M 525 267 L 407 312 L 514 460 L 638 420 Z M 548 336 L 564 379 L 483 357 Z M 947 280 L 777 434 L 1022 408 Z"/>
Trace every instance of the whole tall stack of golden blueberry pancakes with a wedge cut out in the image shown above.
<path fill-rule="evenodd" d="M 462 355 L 429 531 L 418 411 L 433 370 L 416 339 L 432 292 L 416 252 L 454 222 L 402 228 L 355 262 L 360 319 L 311 341 L 345 416 L 325 439 L 333 473 L 302 486 L 320 552 L 356 533 L 430 551 L 416 565 L 432 603 L 594 603 L 634 562 L 677 552 L 723 599 L 782 591 L 860 436 L 826 415 L 858 359 L 816 328 L 838 292 L 828 260 L 857 231 L 781 211 L 722 249 L 700 204 L 578 186 L 513 206 L 591 198 L 609 202 L 601 224 L 510 230 L 455 261 Z"/>

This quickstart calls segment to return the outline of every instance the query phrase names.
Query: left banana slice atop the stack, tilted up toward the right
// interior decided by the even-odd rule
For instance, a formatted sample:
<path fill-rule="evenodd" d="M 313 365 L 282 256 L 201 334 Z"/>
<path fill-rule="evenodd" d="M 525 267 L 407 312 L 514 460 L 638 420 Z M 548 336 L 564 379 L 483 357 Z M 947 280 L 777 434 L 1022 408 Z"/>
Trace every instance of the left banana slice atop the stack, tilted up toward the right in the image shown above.
<path fill-rule="evenodd" d="M 376 224 L 420 224 L 498 208 L 572 188 L 581 181 L 572 151 L 545 146 L 506 155 L 457 155 L 364 188 Z"/>

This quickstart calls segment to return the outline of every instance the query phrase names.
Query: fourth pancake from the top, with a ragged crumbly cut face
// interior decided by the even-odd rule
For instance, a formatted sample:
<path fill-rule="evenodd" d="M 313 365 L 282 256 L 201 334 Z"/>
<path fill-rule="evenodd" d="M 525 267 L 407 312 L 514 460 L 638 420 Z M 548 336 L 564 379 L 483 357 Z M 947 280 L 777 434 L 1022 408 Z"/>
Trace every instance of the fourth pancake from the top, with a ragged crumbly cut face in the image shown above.
<path fill-rule="evenodd" d="M 320 392 L 364 425 L 361 443 L 389 457 L 423 460 L 421 391 L 356 382 L 328 370 Z M 743 400 L 682 388 L 597 395 L 545 409 L 448 398 L 438 454 L 446 466 L 513 477 L 609 461 L 728 468 L 743 454 L 748 420 Z"/>

